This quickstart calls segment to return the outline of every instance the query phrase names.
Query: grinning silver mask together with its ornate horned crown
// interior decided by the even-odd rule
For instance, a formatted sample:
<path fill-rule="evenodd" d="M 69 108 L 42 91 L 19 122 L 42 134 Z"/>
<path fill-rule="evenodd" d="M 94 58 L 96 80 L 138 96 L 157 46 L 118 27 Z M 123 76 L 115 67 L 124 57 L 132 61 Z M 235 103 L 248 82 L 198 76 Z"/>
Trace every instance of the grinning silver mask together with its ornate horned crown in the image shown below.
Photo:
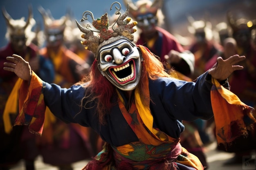
<path fill-rule="evenodd" d="M 119 15 L 115 23 L 109 26 L 108 13 L 105 13 L 101 18 L 94 19 L 92 12 L 85 11 L 81 21 L 88 20 L 87 16 L 92 18 L 92 26 L 97 30 L 93 31 L 92 26 L 87 24 L 84 28 L 77 21 L 76 24 L 85 40 L 81 43 L 94 53 L 98 62 L 99 71 L 105 76 L 114 86 L 123 90 L 131 91 L 135 89 L 139 83 L 141 76 L 141 61 L 142 57 L 139 49 L 133 42 L 133 35 L 136 29 L 133 27 L 137 22 L 129 24 L 131 18 L 126 18 L 129 13 L 129 4 L 124 14 L 121 14 L 120 8 L 115 7 L 116 15 Z M 114 29 L 114 25 L 117 26 Z M 111 29 L 110 29 L 111 28 Z M 94 35 L 94 33 L 96 34 Z"/>

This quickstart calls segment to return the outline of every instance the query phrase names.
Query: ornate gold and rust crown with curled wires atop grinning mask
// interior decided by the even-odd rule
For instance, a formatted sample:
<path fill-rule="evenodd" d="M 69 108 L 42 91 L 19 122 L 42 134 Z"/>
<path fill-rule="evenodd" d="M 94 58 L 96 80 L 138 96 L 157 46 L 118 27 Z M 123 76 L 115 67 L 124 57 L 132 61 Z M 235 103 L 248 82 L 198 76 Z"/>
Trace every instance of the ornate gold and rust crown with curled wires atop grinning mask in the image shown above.
<path fill-rule="evenodd" d="M 81 26 L 77 20 L 76 24 L 81 32 L 84 34 L 81 35 L 82 38 L 84 38 L 84 41 L 81 41 L 81 44 L 85 45 L 85 49 L 88 49 L 92 51 L 92 53 L 95 54 L 95 57 L 97 59 L 97 50 L 100 46 L 102 46 L 102 43 L 105 40 L 108 40 L 110 38 L 116 38 L 116 40 L 119 39 L 120 36 L 123 36 L 124 38 L 127 38 L 131 42 L 133 42 L 134 36 L 132 33 L 135 33 L 137 30 L 133 27 L 137 25 L 137 22 L 132 22 L 129 24 L 131 18 L 126 18 L 129 13 L 129 4 L 127 5 L 126 12 L 122 15 L 121 10 L 121 4 L 119 2 L 113 2 L 110 11 L 112 9 L 113 4 L 119 4 L 120 8 L 117 8 L 117 11 L 115 12 L 115 15 L 119 15 L 117 20 L 114 24 L 112 24 L 112 29 L 109 28 L 109 20 L 108 20 L 108 13 L 105 13 L 101 16 L 101 18 L 94 19 L 94 16 L 91 11 L 85 11 L 83 12 L 83 18 L 81 19 L 81 22 L 84 20 L 88 20 L 87 15 L 90 15 L 92 17 L 92 26 L 94 26 L 95 29 L 98 31 L 92 30 L 92 27 L 87 24 L 84 28 Z M 126 18 L 126 20 L 125 20 Z M 114 25 L 117 24 L 117 27 L 114 29 Z M 94 32 L 99 33 L 99 35 L 94 35 Z M 115 41 L 115 39 L 114 39 Z"/>

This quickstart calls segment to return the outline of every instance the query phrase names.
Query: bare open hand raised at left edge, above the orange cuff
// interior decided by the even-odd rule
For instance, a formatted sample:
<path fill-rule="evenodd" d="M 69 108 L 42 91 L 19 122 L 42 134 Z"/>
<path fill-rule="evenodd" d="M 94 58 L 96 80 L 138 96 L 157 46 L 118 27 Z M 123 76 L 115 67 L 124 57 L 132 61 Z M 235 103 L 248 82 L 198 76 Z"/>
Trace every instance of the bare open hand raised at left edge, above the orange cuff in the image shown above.
<path fill-rule="evenodd" d="M 4 63 L 4 70 L 14 72 L 21 79 L 30 81 L 32 73 L 29 62 L 16 54 L 13 54 L 12 57 L 6 57 L 6 60 L 10 62 Z"/>

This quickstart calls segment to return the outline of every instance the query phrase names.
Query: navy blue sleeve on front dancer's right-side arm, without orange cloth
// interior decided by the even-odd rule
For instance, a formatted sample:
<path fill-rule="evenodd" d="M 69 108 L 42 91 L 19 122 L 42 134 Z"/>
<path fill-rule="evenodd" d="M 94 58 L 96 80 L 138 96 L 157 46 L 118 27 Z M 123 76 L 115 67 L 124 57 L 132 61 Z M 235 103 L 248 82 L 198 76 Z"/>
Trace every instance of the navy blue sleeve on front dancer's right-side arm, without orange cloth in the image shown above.
<path fill-rule="evenodd" d="M 193 121 L 209 119 L 213 116 L 211 108 L 211 79 L 208 73 L 198 77 L 195 82 L 179 79 L 159 78 L 150 83 L 152 109 L 158 114 L 168 114 L 171 119 Z"/>

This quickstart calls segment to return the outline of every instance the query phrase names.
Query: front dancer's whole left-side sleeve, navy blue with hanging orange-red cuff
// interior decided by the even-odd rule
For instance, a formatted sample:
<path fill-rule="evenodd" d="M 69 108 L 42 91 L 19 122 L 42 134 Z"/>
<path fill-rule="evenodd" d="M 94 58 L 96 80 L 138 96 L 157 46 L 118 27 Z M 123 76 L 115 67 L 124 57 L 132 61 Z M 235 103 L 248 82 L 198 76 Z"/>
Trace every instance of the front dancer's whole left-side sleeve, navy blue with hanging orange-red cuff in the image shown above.
<path fill-rule="evenodd" d="M 90 126 L 90 116 L 94 115 L 95 110 L 93 102 L 86 105 L 87 109 L 81 105 L 85 90 L 83 86 L 61 88 L 56 84 L 46 83 L 32 71 L 31 81 L 22 81 L 20 86 L 20 111 L 15 125 L 29 125 L 31 132 L 41 135 L 45 123 L 45 110 L 48 107 L 56 117 L 66 123 Z"/>

